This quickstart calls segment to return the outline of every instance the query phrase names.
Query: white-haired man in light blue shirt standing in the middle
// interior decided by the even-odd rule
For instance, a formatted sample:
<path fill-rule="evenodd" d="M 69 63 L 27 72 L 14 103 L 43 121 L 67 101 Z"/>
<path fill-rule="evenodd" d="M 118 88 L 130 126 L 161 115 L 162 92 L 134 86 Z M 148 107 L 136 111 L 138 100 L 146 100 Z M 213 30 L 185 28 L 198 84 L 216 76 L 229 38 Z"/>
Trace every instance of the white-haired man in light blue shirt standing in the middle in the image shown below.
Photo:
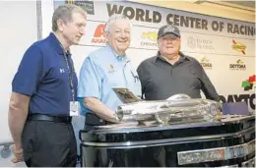
<path fill-rule="evenodd" d="M 113 86 L 129 88 L 141 96 L 137 72 L 125 51 L 130 45 L 131 23 L 123 15 L 113 15 L 105 25 L 107 44 L 89 54 L 80 71 L 78 97 L 86 126 L 117 123 L 115 110 L 122 102 Z"/>

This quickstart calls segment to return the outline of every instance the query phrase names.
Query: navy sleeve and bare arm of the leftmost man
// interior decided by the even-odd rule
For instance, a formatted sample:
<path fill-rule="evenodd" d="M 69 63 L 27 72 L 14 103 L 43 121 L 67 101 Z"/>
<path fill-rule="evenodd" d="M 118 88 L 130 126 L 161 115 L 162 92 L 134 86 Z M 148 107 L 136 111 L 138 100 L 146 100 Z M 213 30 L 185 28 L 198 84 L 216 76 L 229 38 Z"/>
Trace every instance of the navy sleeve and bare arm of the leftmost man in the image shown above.
<path fill-rule="evenodd" d="M 12 95 L 9 104 L 8 123 L 14 140 L 14 163 L 23 160 L 22 133 L 29 114 L 32 94 L 36 92 L 44 76 L 41 50 L 32 44 L 23 56 L 12 82 Z"/>

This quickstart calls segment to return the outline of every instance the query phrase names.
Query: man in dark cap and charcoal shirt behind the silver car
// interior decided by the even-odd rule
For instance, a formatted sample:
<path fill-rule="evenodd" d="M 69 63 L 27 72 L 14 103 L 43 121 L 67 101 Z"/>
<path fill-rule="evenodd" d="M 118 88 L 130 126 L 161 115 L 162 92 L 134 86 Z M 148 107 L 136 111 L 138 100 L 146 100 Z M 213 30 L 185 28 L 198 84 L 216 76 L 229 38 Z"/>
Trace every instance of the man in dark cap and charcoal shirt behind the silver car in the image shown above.
<path fill-rule="evenodd" d="M 201 64 L 180 52 L 180 31 L 177 27 L 161 27 L 158 45 L 157 56 L 146 59 L 137 69 L 142 94 L 147 100 L 166 99 L 177 93 L 201 98 L 200 90 L 206 98 L 220 100 Z"/>

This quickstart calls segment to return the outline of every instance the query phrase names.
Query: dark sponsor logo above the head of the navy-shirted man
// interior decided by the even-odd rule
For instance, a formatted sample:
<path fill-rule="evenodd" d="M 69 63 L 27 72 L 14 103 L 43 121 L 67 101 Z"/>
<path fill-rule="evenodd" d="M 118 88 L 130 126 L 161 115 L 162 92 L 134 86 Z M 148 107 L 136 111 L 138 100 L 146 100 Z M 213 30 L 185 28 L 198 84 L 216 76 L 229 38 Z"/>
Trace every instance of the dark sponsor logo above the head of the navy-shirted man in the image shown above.
<path fill-rule="evenodd" d="M 67 4 L 75 4 L 83 8 L 89 15 L 95 15 L 95 5 L 94 1 L 75 1 L 75 0 L 66 0 Z"/>

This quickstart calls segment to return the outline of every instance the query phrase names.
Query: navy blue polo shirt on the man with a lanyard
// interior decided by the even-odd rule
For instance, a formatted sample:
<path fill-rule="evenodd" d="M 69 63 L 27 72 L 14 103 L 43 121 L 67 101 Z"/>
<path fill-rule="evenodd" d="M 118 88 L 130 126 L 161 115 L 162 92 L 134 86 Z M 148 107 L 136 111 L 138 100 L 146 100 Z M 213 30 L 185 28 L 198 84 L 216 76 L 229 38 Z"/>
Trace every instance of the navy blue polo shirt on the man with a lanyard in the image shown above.
<path fill-rule="evenodd" d="M 70 52 L 64 54 L 59 40 L 53 33 L 30 46 L 24 54 L 13 83 L 13 92 L 31 97 L 30 113 L 52 116 L 68 116 L 72 92 L 69 81 L 69 67 L 73 67 L 72 77 L 75 92 L 78 79 Z M 76 99 L 77 95 L 75 95 Z"/>

